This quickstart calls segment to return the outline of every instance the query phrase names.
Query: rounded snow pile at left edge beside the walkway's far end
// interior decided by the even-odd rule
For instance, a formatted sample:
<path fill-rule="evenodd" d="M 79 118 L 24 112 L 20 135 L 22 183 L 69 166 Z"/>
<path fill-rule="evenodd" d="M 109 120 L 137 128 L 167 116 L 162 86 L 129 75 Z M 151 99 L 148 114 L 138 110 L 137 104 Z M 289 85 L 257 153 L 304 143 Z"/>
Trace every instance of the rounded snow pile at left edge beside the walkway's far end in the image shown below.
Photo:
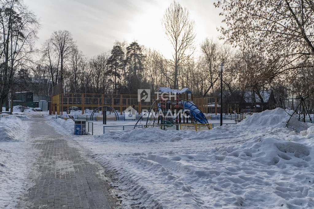
<path fill-rule="evenodd" d="M 15 115 L 0 120 L 0 141 L 22 140 L 27 125 Z"/>

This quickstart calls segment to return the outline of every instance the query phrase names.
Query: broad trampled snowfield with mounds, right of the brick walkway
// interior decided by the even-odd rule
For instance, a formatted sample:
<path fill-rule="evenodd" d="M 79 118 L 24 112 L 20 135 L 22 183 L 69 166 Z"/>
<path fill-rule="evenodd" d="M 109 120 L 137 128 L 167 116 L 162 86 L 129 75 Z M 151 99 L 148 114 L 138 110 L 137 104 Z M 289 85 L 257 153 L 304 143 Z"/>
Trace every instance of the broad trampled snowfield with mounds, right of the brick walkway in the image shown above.
<path fill-rule="evenodd" d="M 289 118 L 278 108 L 208 131 L 73 139 L 112 172 L 125 208 L 314 208 L 314 128 Z"/>

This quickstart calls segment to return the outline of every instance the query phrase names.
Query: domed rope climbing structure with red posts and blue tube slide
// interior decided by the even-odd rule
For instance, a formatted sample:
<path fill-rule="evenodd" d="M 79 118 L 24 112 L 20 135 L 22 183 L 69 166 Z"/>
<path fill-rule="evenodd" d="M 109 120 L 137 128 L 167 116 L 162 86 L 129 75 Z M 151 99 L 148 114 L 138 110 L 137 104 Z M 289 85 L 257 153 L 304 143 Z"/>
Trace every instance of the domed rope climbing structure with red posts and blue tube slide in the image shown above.
<path fill-rule="evenodd" d="M 173 125 L 178 129 L 179 126 L 176 124 L 181 124 L 182 119 L 183 123 L 185 123 L 185 119 L 186 123 L 188 123 L 190 119 L 192 124 L 208 124 L 208 120 L 203 112 L 193 102 L 179 98 L 179 92 L 176 92 L 176 96 L 161 94 L 159 98 L 153 102 L 149 111 L 138 119 L 134 128 L 138 123 L 141 123 L 140 121 L 144 118 L 146 118 L 144 127 L 161 124 L 168 128 Z"/>

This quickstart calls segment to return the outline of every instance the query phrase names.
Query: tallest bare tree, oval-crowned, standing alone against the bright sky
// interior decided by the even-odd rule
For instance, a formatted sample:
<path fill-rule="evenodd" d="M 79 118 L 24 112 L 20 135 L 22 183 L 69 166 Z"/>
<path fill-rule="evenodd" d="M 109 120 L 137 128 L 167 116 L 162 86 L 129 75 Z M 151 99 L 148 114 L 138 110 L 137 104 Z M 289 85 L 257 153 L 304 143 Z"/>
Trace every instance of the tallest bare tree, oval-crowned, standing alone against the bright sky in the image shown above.
<path fill-rule="evenodd" d="M 195 22 L 190 19 L 187 8 L 182 8 L 179 3 L 174 1 L 166 9 L 162 24 L 174 49 L 172 54 L 172 65 L 175 68 L 173 88 L 176 89 L 178 87 L 178 67 L 190 58 L 194 51 Z"/>

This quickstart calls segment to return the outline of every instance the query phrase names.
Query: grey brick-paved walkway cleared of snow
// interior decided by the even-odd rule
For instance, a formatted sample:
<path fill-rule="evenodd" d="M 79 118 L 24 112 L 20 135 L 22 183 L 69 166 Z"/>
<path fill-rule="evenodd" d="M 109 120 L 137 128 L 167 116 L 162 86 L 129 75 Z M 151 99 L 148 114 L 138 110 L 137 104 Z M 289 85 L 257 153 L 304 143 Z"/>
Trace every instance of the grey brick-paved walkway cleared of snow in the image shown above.
<path fill-rule="evenodd" d="M 46 123 L 49 121 L 29 121 L 37 162 L 33 165 L 34 185 L 18 208 L 115 208 L 100 165 L 84 159 L 65 136 L 55 133 Z"/>

